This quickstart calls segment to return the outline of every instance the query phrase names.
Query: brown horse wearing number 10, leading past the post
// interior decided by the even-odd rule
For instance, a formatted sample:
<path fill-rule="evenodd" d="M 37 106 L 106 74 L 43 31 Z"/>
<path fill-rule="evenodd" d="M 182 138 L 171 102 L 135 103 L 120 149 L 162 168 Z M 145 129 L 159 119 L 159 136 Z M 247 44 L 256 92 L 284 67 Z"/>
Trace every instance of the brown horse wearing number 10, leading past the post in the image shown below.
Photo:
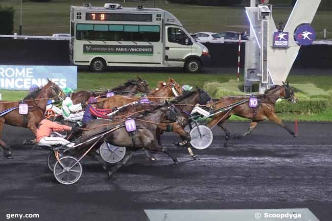
<path fill-rule="evenodd" d="M 269 90 L 265 91 L 264 94 L 258 94 L 257 96 L 259 106 L 257 108 L 250 108 L 249 107 L 249 99 L 250 96 L 226 96 L 222 97 L 221 99 L 215 100 L 214 109 L 219 109 L 222 107 L 226 107 L 228 105 L 232 105 L 236 102 L 248 100 L 247 103 L 241 104 L 230 109 L 227 112 L 223 112 L 220 114 L 215 115 L 212 120 L 207 124 L 209 128 L 218 124 L 225 132 L 226 140 L 229 138 L 229 131 L 223 127 L 223 123 L 232 115 L 237 115 L 240 117 L 244 117 L 247 119 L 251 119 L 250 127 L 248 131 L 244 134 L 239 136 L 235 135 L 234 138 L 243 138 L 249 135 L 252 130 L 256 127 L 257 123 L 266 119 L 269 119 L 273 122 L 276 122 L 279 126 L 286 129 L 291 135 L 297 137 L 290 128 L 283 124 L 283 122 L 278 118 L 275 114 L 275 103 L 278 99 L 286 99 L 289 102 L 296 103 L 297 100 L 295 98 L 294 89 L 289 87 L 287 83 L 281 86 L 274 86 Z"/>

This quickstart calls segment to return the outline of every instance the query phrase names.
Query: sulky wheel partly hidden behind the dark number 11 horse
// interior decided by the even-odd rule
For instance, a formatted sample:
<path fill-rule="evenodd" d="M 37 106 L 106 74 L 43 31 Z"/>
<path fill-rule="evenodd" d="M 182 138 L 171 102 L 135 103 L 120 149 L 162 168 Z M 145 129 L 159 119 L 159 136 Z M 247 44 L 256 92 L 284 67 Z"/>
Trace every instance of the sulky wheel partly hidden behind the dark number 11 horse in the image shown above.
<path fill-rule="evenodd" d="M 126 148 L 104 142 L 99 149 L 100 156 L 108 163 L 120 162 L 126 155 Z"/>

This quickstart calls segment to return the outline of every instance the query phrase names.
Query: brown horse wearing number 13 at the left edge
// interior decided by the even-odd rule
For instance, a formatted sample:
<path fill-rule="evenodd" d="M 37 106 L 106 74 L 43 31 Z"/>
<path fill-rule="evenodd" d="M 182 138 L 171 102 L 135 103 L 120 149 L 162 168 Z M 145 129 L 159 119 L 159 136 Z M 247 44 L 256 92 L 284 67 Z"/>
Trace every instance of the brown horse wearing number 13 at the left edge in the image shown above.
<path fill-rule="evenodd" d="M 37 126 L 44 118 L 46 103 L 50 98 L 63 96 L 60 87 L 48 79 L 48 83 L 41 89 L 35 90 L 25 97 L 24 103 L 29 105 L 29 112 L 27 115 L 20 115 L 18 109 L 9 112 L 8 114 L 0 117 L 0 138 L 4 124 L 29 128 L 34 135 L 36 135 Z M 18 107 L 20 102 L 1 101 L 0 111 L 8 110 L 13 107 Z M 12 158 L 12 152 L 5 142 L 0 142 L 0 150 L 4 151 L 4 156 Z"/>

